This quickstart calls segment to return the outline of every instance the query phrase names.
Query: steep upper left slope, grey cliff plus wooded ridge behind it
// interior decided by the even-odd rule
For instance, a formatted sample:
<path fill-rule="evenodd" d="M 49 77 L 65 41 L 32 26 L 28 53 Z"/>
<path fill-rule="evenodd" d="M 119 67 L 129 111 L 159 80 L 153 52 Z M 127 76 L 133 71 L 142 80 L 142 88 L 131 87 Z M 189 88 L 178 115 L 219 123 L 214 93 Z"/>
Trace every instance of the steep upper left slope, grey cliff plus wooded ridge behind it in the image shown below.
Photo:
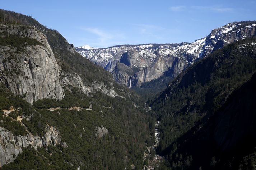
<path fill-rule="evenodd" d="M 13 24 L 1 24 L 0 82 L 13 93 L 30 103 L 43 98 L 61 99 L 66 86 L 79 87 L 88 95 L 99 90 L 118 96 L 111 74 L 81 58 L 57 31 L 33 18 L 1 11 L 1 20 L 5 18 L 6 22 L 8 17 Z"/>

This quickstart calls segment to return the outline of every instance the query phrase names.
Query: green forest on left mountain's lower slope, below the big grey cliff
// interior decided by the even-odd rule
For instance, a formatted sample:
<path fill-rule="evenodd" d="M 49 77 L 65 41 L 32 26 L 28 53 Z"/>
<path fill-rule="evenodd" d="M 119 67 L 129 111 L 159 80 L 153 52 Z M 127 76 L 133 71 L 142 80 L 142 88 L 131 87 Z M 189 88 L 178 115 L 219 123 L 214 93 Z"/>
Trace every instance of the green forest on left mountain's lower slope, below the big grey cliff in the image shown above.
<path fill-rule="evenodd" d="M 120 89 L 122 86 L 118 85 L 115 88 Z M 1 89 L 0 94 L 6 96 L 5 98 L 9 100 L 11 106 L 16 109 L 19 108 L 18 111 L 11 112 L 9 116 L 3 117 L 1 127 L 13 132 L 14 135 L 22 136 L 26 134 L 26 127 L 34 135 L 43 136 L 43 130 L 47 123 L 50 126 L 55 126 L 60 131 L 61 140 L 65 140 L 68 145 L 68 148 L 65 149 L 50 146 L 48 153 L 51 153 L 51 156 L 43 154 L 48 160 L 45 160 L 44 156 L 41 157 L 38 153 L 29 151 L 25 156 L 18 156 L 18 162 L 8 164 L 7 169 L 13 166 L 22 168 L 22 164 L 31 167 L 31 162 L 28 160 L 31 159 L 30 157 L 33 154 L 37 155 L 35 162 L 38 163 L 35 165 L 41 164 L 40 159 L 42 159 L 43 162 L 50 164 L 51 169 L 62 168 L 64 165 L 70 165 L 70 163 L 74 167 L 81 166 L 85 169 L 102 169 L 103 167 L 124 169 L 129 167 L 131 163 L 141 167 L 143 165 L 142 156 L 145 150 L 145 142 L 148 145 L 152 145 L 154 142 L 152 135 L 154 135 L 155 120 L 146 114 L 136 95 L 134 95 L 134 98 L 127 97 L 125 99 L 121 97 L 113 98 L 96 92 L 93 97 L 89 98 L 81 93 L 78 88 L 72 88 L 71 92 L 65 91 L 66 96 L 63 100 L 43 99 L 34 102 L 34 106 L 31 106 L 22 97 L 13 96 L 5 88 Z M 139 107 L 135 107 L 132 103 Z M 92 104 L 92 110 L 65 109 L 74 106 L 88 108 L 89 104 Z M 46 110 L 54 106 L 63 107 L 64 109 Z M 104 117 L 102 117 L 102 114 Z M 25 127 L 21 126 L 18 121 L 13 121 L 12 118 L 19 115 L 30 117 L 29 120 L 23 118 L 22 123 Z M 151 130 L 149 130 L 149 125 Z M 95 127 L 101 126 L 108 129 L 110 136 L 97 139 L 95 137 Z M 64 161 L 69 163 L 63 164 Z"/>

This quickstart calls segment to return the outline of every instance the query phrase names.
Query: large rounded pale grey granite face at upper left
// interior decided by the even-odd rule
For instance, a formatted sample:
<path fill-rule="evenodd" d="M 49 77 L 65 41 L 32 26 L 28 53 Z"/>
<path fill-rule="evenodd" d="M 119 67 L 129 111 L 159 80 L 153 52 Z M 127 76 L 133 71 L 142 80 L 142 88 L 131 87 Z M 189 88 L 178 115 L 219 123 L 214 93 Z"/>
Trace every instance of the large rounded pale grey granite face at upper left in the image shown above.
<path fill-rule="evenodd" d="M 25 95 L 29 103 L 43 98 L 64 97 L 57 64 L 46 36 L 35 28 L 0 25 L 0 31 L 36 39 L 42 45 L 0 46 L 0 82 L 16 95 Z M 8 35 L 7 35 L 8 36 Z"/>

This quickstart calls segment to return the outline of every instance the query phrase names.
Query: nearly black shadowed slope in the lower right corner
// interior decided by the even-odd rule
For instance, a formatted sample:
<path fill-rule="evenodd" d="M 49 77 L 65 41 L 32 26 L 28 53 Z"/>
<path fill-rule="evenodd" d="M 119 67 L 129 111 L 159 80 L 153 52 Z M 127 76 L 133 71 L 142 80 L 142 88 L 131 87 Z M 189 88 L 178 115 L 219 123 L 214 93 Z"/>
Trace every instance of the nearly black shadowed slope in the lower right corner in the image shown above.
<path fill-rule="evenodd" d="M 212 159 L 215 169 L 253 169 L 255 158 L 250 163 L 243 157 L 255 151 L 256 115 L 255 90 L 256 73 L 227 98 L 205 125 L 188 141 L 180 146 L 178 152 L 190 152 L 194 167 L 208 168 Z M 193 147 L 191 147 L 193 146 Z M 182 148 L 182 149 L 181 149 Z M 207 154 L 205 154 L 207 150 Z M 204 155 L 202 158 L 200 155 Z"/>

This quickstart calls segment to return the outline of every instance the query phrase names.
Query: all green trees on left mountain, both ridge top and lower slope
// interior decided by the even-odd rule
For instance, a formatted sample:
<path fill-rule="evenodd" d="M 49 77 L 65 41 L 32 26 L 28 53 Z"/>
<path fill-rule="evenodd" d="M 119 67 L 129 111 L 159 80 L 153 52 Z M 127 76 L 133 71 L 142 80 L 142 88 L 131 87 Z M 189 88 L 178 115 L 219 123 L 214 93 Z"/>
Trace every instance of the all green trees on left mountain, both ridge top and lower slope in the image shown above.
<path fill-rule="evenodd" d="M 8 18 L 8 21 L 12 20 L 10 21 L 12 24 L 15 20 L 21 25 L 35 26 L 45 33 L 56 59 L 60 62 L 64 76 L 70 73 L 80 74 L 84 84 L 103 82 L 108 87 L 112 87 L 113 84 L 115 91 L 125 97 L 113 98 L 100 92 L 95 92 L 88 97 L 80 92 L 80 89 L 69 87 L 71 91 L 65 90 L 63 100 L 43 99 L 34 102 L 31 106 L 19 96 L 7 96 L 11 105 L 16 109 L 19 108 L 19 113 L 28 117 L 23 118 L 22 123 L 29 131 L 42 136 L 47 123 L 60 131 L 61 140 L 65 140 L 68 147 L 50 146 L 47 153 L 45 150 L 23 152 L 26 155 L 18 156 L 17 161 L 9 164 L 10 167 L 6 166 L 6 169 L 11 169 L 15 165 L 18 169 L 24 166 L 28 169 L 41 167 L 74 169 L 78 166 L 81 169 L 125 169 L 130 167 L 130 164 L 140 169 L 143 165 L 145 142 L 148 145 L 154 142 L 152 140 L 154 129 L 149 129 L 149 125 L 153 128 L 152 121 L 155 119 L 150 118 L 144 110 L 144 103 L 139 101 L 138 96 L 114 83 L 112 75 L 103 68 L 80 54 L 73 53 L 73 47 L 56 30 L 46 28 L 31 17 L 10 11 L 0 10 L 0 17 L 2 22 L 3 19 Z M 85 108 L 90 104 L 92 110 L 86 110 Z M 84 109 L 80 111 L 67 109 L 74 106 Z M 62 109 L 47 110 L 47 108 L 56 107 Z M 95 136 L 96 127 L 101 126 L 108 129 L 109 135 L 98 139 Z M 32 157 L 32 155 L 35 156 Z M 73 164 L 72 167 L 68 166 L 71 164 Z"/>

